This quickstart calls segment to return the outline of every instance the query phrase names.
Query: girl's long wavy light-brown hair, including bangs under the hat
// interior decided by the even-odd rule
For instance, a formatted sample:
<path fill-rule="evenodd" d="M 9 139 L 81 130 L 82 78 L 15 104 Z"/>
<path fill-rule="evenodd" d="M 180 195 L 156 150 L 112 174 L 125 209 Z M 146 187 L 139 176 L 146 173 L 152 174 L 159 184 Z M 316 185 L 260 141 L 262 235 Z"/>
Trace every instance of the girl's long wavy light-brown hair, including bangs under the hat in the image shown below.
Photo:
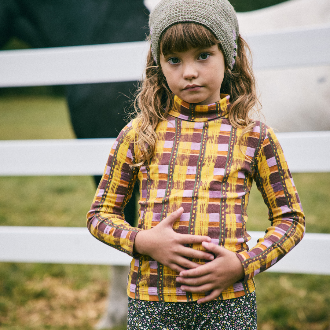
<path fill-rule="evenodd" d="M 150 37 L 149 37 L 150 38 Z M 182 52 L 194 48 L 208 48 L 221 43 L 205 26 L 183 22 L 177 23 L 165 30 L 160 40 L 160 52 L 168 55 L 171 52 Z M 237 55 L 233 69 L 225 68 L 221 93 L 230 95 L 231 106 L 228 113 L 230 124 L 242 128 L 242 135 L 252 131 L 255 122 L 250 118 L 251 112 L 259 111 L 260 105 L 247 51 L 250 49 L 245 40 L 239 36 L 237 40 Z M 157 65 L 151 48 L 147 56 L 145 78 L 141 81 L 134 100 L 136 118 L 136 141 L 139 153 L 135 155 L 134 167 L 150 162 L 156 146 L 156 126 L 166 116 L 173 104 L 173 97 L 161 66 Z M 239 140 L 240 143 L 241 140 Z"/>

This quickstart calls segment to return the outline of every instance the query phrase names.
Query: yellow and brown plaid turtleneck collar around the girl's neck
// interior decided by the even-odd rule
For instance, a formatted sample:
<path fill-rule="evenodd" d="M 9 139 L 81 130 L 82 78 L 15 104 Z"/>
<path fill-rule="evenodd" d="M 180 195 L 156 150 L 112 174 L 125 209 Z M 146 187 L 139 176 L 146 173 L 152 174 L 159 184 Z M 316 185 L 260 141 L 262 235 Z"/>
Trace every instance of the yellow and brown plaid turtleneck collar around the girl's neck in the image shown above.
<path fill-rule="evenodd" d="M 229 95 L 220 94 L 220 101 L 209 105 L 196 105 L 181 100 L 177 95 L 173 96 L 173 107 L 168 112 L 170 116 L 187 121 L 204 122 L 218 118 L 228 118 L 230 108 Z"/>

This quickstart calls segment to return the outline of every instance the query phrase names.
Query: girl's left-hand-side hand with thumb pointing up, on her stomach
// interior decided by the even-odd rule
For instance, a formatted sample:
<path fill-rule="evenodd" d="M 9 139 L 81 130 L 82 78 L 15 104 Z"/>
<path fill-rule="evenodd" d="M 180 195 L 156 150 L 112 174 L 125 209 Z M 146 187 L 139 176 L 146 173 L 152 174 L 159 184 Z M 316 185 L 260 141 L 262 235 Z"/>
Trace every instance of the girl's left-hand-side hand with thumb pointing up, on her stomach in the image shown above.
<path fill-rule="evenodd" d="M 187 248 L 184 244 L 211 242 L 208 236 L 178 234 L 173 230 L 174 222 L 183 213 L 181 207 L 168 215 L 156 226 L 139 231 L 134 240 L 134 251 L 149 255 L 152 259 L 180 273 L 189 268 L 200 266 L 186 258 L 213 260 L 211 253 Z"/>

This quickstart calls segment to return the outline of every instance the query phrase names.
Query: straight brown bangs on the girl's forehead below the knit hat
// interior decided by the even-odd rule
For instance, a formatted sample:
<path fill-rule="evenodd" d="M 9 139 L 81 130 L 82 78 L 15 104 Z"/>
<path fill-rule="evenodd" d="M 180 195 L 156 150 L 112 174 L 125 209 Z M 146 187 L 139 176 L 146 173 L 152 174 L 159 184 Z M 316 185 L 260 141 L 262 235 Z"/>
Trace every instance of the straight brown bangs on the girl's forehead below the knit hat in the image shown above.
<path fill-rule="evenodd" d="M 194 48 L 208 48 L 220 42 L 204 25 L 183 22 L 168 27 L 160 40 L 160 52 L 166 56 L 172 52 L 182 52 Z"/>

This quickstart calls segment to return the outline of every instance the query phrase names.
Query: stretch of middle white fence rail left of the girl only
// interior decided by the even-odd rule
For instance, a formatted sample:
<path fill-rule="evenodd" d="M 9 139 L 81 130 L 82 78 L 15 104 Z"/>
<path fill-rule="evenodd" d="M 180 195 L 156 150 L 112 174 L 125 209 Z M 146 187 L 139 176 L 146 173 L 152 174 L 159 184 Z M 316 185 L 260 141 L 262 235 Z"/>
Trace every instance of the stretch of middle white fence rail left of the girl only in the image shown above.
<path fill-rule="evenodd" d="M 101 175 L 115 140 L 0 141 L 0 175 Z"/>

